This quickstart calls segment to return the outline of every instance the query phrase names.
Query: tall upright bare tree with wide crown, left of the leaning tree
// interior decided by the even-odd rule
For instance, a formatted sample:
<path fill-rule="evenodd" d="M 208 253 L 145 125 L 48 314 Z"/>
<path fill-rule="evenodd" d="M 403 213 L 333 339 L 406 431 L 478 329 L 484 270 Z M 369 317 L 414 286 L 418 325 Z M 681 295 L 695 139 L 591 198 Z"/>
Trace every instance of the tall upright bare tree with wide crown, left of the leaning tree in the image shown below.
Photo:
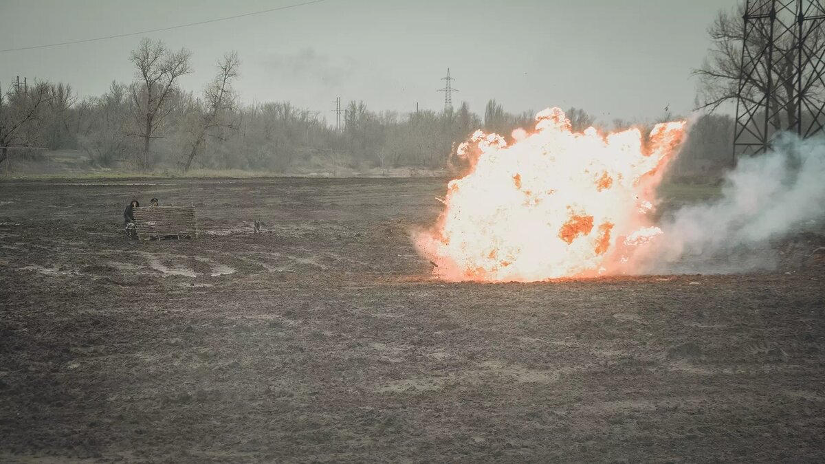
<path fill-rule="evenodd" d="M 177 92 L 177 80 L 191 73 L 191 52 L 186 49 L 172 52 L 162 41 L 150 39 L 140 41 L 137 50 L 133 50 L 130 61 L 137 68 L 135 81 L 131 85 L 131 97 L 134 102 L 134 119 L 137 122 L 136 135 L 143 141 L 143 150 L 138 158 L 138 166 L 147 171 L 152 164 L 150 143 L 158 127 L 172 107 L 167 105 L 169 98 Z"/>

